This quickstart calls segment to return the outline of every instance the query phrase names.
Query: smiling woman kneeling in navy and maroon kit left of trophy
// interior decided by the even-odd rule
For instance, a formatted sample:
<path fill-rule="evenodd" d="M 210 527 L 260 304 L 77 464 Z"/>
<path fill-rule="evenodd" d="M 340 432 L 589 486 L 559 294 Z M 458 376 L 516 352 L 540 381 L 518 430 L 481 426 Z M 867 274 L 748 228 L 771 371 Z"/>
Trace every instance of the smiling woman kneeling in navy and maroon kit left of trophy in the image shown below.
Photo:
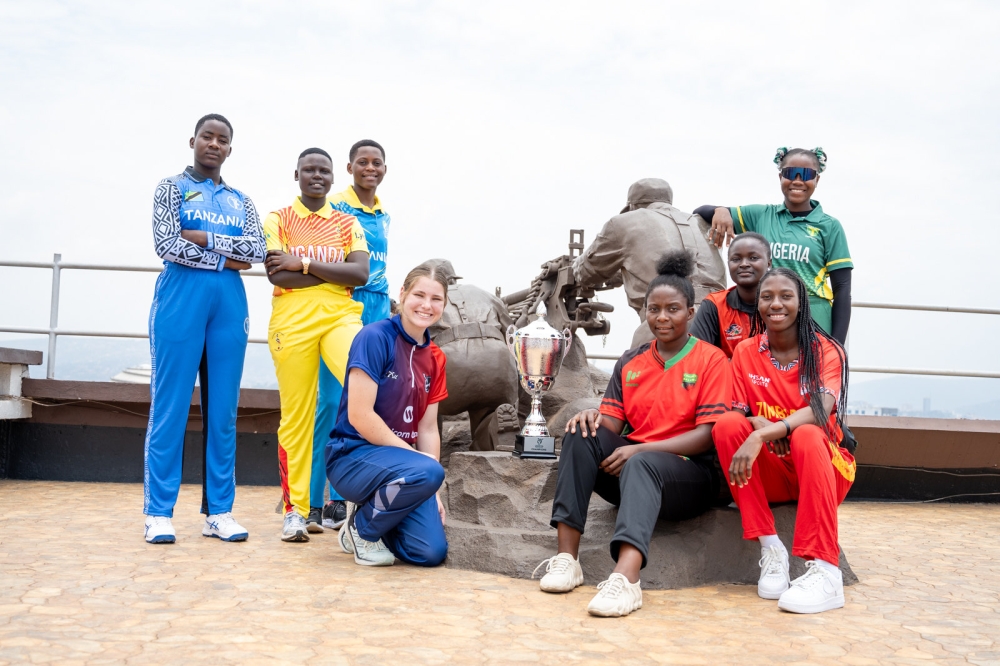
<path fill-rule="evenodd" d="M 400 313 L 365 326 L 351 344 L 326 470 L 350 503 L 340 546 L 361 565 L 389 566 L 398 557 L 433 567 L 448 554 L 437 496 L 445 356 L 427 333 L 447 298 L 444 275 L 417 266 L 403 281 Z"/>

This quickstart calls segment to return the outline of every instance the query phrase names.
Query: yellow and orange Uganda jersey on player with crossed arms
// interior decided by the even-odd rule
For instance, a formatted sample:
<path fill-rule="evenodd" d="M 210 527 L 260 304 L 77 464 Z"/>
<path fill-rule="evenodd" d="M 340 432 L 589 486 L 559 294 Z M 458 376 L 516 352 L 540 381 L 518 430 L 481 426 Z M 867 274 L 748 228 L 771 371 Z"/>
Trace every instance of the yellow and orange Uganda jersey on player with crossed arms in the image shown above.
<path fill-rule="evenodd" d="M 327 263 L 344 261 L 351 252 L 368 252 L 365 230 L 358 218 L 336 210 L 329 203 L 314 213 L 302 205 L 299 197 L 295 197 L 291 206 L 268 214 L 264 220 L 264 239 L 268 250 Z M 274 295 L 312 289 L 351 297 L 350 287 L 329 282 L 299 289 L 275 287 Z"/>

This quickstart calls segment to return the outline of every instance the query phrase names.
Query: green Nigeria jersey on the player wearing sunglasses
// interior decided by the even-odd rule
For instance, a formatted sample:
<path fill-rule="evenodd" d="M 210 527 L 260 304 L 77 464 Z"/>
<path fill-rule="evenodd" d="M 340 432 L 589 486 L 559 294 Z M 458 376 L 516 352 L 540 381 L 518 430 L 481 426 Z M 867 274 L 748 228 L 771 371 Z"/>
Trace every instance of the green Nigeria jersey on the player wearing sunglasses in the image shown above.
<path fill-rule="evenodd" d="M 840 222 L 823 212 L 818 201 L 806 215 L 784 204 L 754 204 L 730 208 L 736 233 L 756 231 L 771 244 L 771 264 L 793 270 L 806 283 L 813 319 L 831 330 L 833 290 L 827 275 L 853 268 L 847 237 Z"/>

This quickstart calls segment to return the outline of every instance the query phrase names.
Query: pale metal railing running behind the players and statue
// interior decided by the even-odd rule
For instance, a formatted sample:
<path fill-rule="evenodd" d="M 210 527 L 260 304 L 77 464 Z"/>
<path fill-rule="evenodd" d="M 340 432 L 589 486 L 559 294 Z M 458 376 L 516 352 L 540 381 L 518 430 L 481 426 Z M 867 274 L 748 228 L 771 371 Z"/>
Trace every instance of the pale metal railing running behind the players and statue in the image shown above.
<path fill-rule="evenodd" d="M 59 287 L 61 273 L 64 270 L 82 271 L 125 271 L 131 273 L 160 273 L 162 266 L 104 266 L 98 264 L 74 264 L 63 263 L 62 255 L 52 255 L 52 263 L 30 262 L 30 261 L 0 261 L 0 267 L 4 268 L 43 268 L 52 271 L 52 297 L 49 303 L 49 327 L 48 328 L 24 328 L 16 326 L 0 326 L 0 333 L 24 333 L 27 335 L 47 335 L 49 340 L 49 351 L 46 355 L 45 376 L 48 379 L 55 378 L 56 370 L 56 341 L 60 336 L 81 336 L 95 338 L 148 338 L 148 333 L 117 333 L 112 331 L 87 331 L 87 330 L 60 330 L 59 329 Z M 264 271 L 250 270 L 242 271 L 243 275 L 253 277 L 266 277 Z M 899 303 L 866 303 L 853 302 L 852 308 L 870 308 L 873 310 L 909 310 L 914 312 L 950 312 L 961 314 L 984 314 L 1000 315 L 1000 310 L 990 308 L 960 308 L 944 305 L 902 305 Z M 264 338 L 250 338 L 249 342 L 254 344 L 266 344 Z M 617 361 L 621 354 L 587 354 L 590 360 Z M 1000 379 L 1000 372 L 978 372 L 971 370 L 930 370 L 921 368 L 880 368 L 880 367 L 856 367 L 851 366 L 851 372 L 866 372 L 890 375 L 930 375 L 938 377 L 981 377 L 986 379 Z"/>

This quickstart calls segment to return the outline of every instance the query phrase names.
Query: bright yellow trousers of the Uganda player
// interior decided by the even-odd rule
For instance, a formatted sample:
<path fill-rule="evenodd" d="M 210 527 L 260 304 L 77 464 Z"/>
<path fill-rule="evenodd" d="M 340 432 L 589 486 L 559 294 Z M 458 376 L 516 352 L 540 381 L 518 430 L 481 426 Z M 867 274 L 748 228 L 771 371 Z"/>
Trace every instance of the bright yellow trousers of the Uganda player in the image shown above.
<path fill-rule="evenodd" d="M 347 296 L 320 289 L 291 291 L 271 300 L 267 346 L 281 399 L 278 471 L 286 513 L 294 508 L 303 518 L 309 516 L 320 358 L 343 384 L 363 308 Z"/>

